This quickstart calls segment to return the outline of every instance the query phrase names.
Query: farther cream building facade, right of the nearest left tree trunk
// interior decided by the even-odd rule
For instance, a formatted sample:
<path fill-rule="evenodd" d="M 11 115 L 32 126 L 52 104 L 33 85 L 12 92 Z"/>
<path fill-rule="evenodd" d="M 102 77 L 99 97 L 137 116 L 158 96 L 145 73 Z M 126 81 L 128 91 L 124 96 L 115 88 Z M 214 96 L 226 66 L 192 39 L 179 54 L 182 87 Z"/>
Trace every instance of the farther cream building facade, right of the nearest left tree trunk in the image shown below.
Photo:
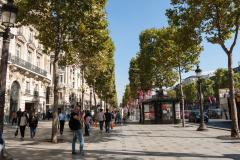
<path fill-rule="evenodd" d="M 59 68 L 59 106 L 73 107 L 79 105 L 83 110 L 91 110 L 94 104 L 93 88 L 85 79 L 80 67 L 71 65 Z M 96 96 L 97 105 L 100 104 Z M 83 102 L 82 102 L 83 101 Z"/>

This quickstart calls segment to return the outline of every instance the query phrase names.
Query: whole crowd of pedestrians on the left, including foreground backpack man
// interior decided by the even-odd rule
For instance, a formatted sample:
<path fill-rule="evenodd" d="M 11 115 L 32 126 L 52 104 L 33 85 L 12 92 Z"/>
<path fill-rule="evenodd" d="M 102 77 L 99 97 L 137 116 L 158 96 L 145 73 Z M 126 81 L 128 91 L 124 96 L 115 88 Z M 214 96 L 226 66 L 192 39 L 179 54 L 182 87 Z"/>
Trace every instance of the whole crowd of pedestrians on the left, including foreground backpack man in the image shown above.
<path fill-rule="evenodd" d="M 17 112 L 12 113 L 12 125 L 16 125 L 16 131 L 14 133 L 15 137 L 20 135 L 20 139 L 24 140 L 26 127 L 30 128 L 30 138 L 34 139 L 39 119 L 50 120 L 53 118 L 53 113 L 48 110 L 45 115 L 41 115 L 35 112 L 28 113 L 27 111 L 21 111 L 19 109 Z M 64 127 L 68 121 L 69 128 L 72 131 L 72 154 L 76 154 L 76 142 L 79 141 L 80 154 L 84 155 L 84 136 L 90 136 L 92 134 L 93 127 L 99 127 L 100 133 L 105 132 L 110 133 L 111 130 L 116 125 L 122 124 L 127 119 L 126 114 L 122 116 L 119 110 L 110 111 L 106 109 L 99 109 L 97 113 L 92 113 L 91 111 L 81 111 L 80 106 L 75 106 L 71 112 L 66 112 L 64 110 L 58 112 L 58 130 L 60 135 L 64 133 Z M 20 132 L 20 134 L 19 134 Z"/>

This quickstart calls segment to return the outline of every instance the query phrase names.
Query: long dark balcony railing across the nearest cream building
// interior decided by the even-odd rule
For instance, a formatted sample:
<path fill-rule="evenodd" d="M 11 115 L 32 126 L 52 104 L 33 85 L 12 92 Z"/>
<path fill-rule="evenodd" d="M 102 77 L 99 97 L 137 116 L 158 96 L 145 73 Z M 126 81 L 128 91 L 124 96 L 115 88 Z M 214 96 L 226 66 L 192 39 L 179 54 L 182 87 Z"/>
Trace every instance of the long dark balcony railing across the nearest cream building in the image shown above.
<path fill-rule="evenodd" d="M 13 56 L 13 55 L 9 55 L 9 61 L 12 62 L 13 64 L 16 64 L 18 66 L 21 66 L 23 68 L 26 68 L 32 72 L 35 72 L 37 74 L 40 74 L 42 76 L 47 76 L 47 71 L 43 70 L 19 57 Z"/>

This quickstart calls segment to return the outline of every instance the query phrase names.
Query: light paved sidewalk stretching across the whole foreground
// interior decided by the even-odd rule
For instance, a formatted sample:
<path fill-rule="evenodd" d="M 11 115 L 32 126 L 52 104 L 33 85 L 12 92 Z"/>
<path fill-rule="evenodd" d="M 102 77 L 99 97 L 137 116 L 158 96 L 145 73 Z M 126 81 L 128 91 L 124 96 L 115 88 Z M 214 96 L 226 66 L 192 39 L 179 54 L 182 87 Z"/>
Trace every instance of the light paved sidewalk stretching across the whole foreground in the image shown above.
<path fill-rule="evenodd" d="M 240 160 L 240 140 L 231 139 L 224 130 L 197 132 L 196 126 L 189 125 L 138 124 L 116 127 L 110 134 L 94 129 L 82 157 L 71 155 L 71 132 L 66 128 L 58 144 L 47 142 L 49 122 L 41 122 L 35 140 L 20 141 L 14 138 L 14 129 L 8 129 L 7 150 L 16 160 Z"/>

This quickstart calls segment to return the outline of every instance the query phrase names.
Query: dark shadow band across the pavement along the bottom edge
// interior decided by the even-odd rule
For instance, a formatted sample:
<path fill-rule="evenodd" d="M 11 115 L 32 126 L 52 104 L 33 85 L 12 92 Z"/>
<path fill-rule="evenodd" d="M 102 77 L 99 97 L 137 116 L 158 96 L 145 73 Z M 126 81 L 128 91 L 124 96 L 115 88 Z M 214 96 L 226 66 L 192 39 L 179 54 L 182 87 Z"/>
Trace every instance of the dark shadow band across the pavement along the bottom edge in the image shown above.
<path fill-rule="evenodd" d="M 141 160 L 142 158 L 154 157 L 174 157 L 174 158 L 229 158 L 232 160 L 239 160 L 240 154 L 225 154 L 223 156 L 213 156 L 207 154 L 197 153 L 177 153 L 177 152 L 150 152 L 150 151 L 106 151 L 106 150 L 86 150 L 85 156 L 80 154 L 71 155 L 70 150 L 64 149 L 45 149 L 45 148 L 31 148 L 27 147 L 24 150 L 21 148 L 12 148 L 11 153 L 17 155 L 21 153 L 21 158 L 14 158 L 15 160 L 66 160 L 66 159 L 106 159 L 106 160 Z M 31 153 L 31 154 L 30 154 Z M 17 157 L 17 156 L 16 156 Z"/>

